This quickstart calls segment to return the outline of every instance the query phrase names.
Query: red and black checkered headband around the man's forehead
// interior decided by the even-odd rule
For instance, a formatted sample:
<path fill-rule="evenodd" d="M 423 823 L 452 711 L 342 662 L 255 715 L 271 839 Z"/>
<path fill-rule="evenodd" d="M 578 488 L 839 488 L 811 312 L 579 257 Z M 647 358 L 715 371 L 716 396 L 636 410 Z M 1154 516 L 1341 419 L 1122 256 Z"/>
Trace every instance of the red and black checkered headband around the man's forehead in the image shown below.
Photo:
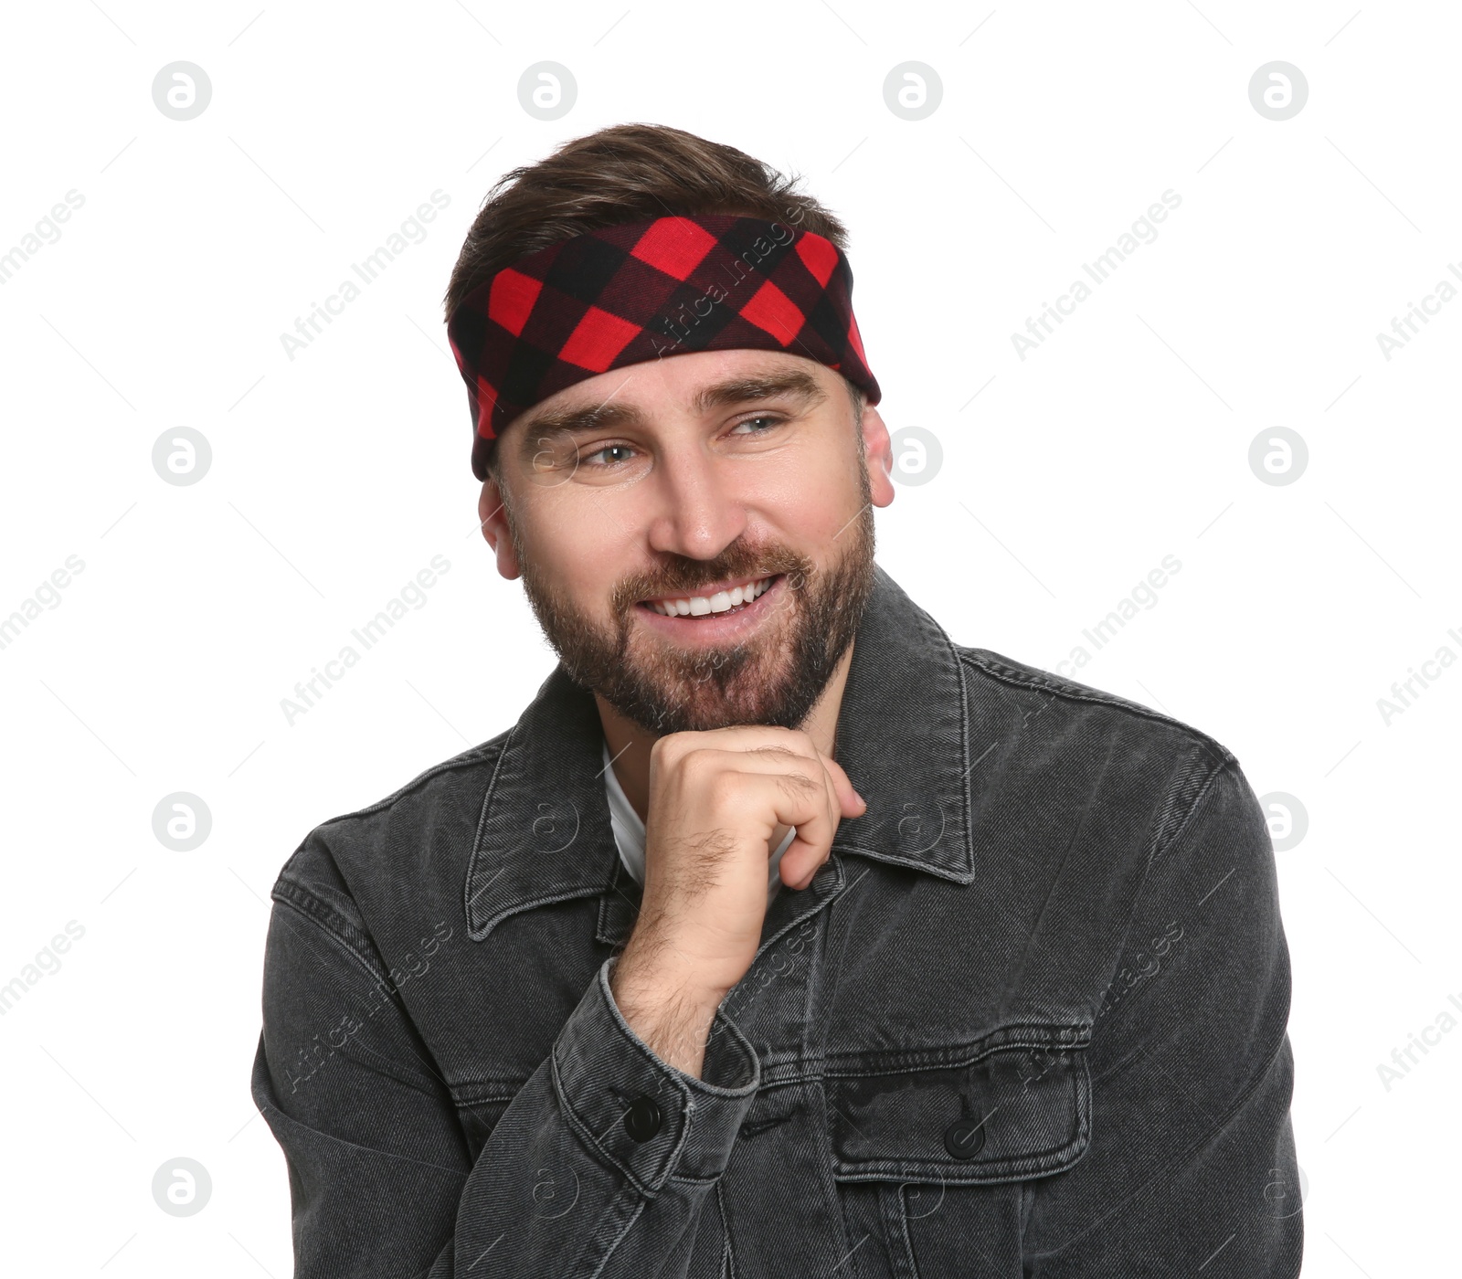
<path fill-rule="evenodd" d="M 513 418 L 626 364 L 750 346 L 826 364 L 879 402 L 852 270 L 829 240 L 760 218 L 654 218 L 541 248 L 469 292 L 447 341 L 472 412 L 472 474 Z"/>

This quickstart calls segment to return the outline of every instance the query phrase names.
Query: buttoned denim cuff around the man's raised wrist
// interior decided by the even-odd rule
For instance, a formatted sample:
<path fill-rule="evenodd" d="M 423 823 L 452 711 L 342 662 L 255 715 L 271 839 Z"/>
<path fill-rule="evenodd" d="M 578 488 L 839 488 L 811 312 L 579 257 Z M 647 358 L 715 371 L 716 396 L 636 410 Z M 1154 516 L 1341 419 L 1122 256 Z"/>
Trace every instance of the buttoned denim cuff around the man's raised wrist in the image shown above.
<path fill-rule="evenodd" d="M 646 1193 L 675 1177 L 713 1180 L 762 1085 L 751 1042 L 716 1009 L 705 1079 L 677 1070 L 645 1044 L 614 1003 L 599 966 L 553 1050 L 553 1079 L 570 1127 Z"/>

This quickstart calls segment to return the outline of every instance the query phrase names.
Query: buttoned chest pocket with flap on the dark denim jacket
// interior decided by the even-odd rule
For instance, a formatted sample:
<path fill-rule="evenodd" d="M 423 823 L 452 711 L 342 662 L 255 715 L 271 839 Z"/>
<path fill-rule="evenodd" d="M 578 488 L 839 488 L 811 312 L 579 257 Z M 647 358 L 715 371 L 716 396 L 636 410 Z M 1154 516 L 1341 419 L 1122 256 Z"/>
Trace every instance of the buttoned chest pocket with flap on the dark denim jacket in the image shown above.
<path fill-rule="evenodd" d="M 1091 1028 L 1010 1026 L 917 1051 L 841 1055 L 823 1074 L 851 1232 L 895 1279 L 1018 1275 L 1020 1183 L 1091 1140 Z"/>

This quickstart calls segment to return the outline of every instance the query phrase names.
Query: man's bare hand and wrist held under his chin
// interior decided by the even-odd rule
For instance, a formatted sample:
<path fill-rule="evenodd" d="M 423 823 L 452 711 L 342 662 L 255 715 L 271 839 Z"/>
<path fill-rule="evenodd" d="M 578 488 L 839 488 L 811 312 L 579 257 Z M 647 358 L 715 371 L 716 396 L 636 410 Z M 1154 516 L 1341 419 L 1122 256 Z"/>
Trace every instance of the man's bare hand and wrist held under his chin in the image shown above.
<path fill-rule="evenodd" d="M 827 859 L 838 823 L 866 810 L 806 732 L 747 725 L 655 743 L 645 893 L 610 985 L 662 1060 L 699 1074 L 715 1010 L 756 959 L 766 868 L 787 829 L 797 835 L 779 874 L 801 889 Z"/>

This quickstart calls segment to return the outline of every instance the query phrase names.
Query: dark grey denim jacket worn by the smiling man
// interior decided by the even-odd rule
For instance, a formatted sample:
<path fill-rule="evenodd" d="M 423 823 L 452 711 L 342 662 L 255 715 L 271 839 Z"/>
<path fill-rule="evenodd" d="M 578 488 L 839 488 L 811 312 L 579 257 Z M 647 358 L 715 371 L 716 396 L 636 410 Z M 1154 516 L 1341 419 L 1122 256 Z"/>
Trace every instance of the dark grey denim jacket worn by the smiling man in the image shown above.
<path fill-rule="evenodd" d="M 1294 1276 L 1289 959 L 1228 750 L 955 645 L 882 570 L 836 759 L 702 1077 L 610 993 L 640 889 L 592 696 L 311 830 L 253 1096 L 307 1279 Z"/>

